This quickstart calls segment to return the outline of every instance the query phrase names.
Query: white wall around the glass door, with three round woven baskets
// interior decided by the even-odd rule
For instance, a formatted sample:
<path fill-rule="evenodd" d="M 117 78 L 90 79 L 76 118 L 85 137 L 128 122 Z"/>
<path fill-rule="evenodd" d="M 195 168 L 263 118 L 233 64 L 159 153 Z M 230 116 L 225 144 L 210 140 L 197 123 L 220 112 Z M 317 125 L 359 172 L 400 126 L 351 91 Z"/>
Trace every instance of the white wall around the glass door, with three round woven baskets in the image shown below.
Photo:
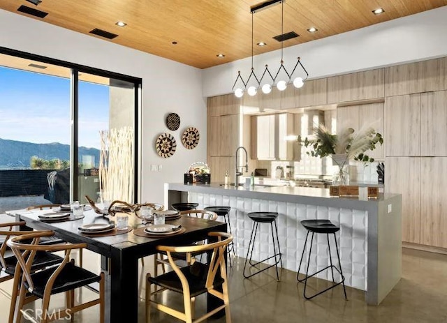
<path fill-rule="evenodd" d="M 206 159 L 201 70 L 6 10 L 0 10 L 0 30 L 0 47 L 142 78 L 142 201 L 163 202 L 163 183 L 183 181 L 191 163 Z M 164 120 L 169 112 L 182 118 L 179 130 L 166 128 Z M 187 126 L 200 131 L 200 142 L 193 150 L 185 149 L 181 142 Z M 156 137 L 164 132 L 177 140 L 177 151 L 166 159 L 154 149 Z M 151 164 L 162 165 L 161 172 L 151 172 Z"/>

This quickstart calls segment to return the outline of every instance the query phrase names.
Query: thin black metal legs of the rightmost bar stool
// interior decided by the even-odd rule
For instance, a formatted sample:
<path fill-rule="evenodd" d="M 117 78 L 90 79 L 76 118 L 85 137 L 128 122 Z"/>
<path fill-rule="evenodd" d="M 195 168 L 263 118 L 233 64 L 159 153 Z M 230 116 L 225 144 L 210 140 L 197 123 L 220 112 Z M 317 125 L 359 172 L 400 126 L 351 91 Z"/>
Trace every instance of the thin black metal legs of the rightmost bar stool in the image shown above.
<path fill-rule="evenodd" d="M 310 241 L 310 248 L 309 248 L 309 257 L 307 257 L 308 259 L 307 259 L 306 276 L 305 276 L 305 278 L 303 278 L 303 279 L 301 279 L 301 280 L 298 279 L 298 274 L 299 274 L 299 272 L 300 272 L 302 258 L 303 258 L 304 253 L 305 253 L 306 244 L 307 244 L 307 237 L 308 237 L 308 236 L 309 236 L 309 231 L 307 232 L 307 235 L 306 235 L 305 247 L 304 247 L 303 250 L 302 250 L 302 255 L 301 255 L 301 260 L 300 260 L 300 266 L 298 267 L 298 273 L 297 273 L 297 280 L 298 280 L 298 282 L 300 282 L 300 283 L 302 283 L 303 281 L 305 282 L 305 290 L 304 290 L 304 292 L 303 292 L 303 296 L 305 296 L 305 299 L 313 299 L 315 296 L 318 296 L 318 295 L 320 295 L 320 294 L 323 294 L 324 292 L 327 292 L 328 290 L 332 290 L 332 288 L 337 287 L 337 285 L 342 284 L 342 285 L 343 285 L 344 298 L 345 298 L 345 299 L 348 299 L 347 296 L 346 296 L 346 287 L 344 286 L 344 276 L 343 276 L 343 273 L 342 273 L 342 262 L 340 262 L 340 256 L 339 256 L 338 245 L 337 245 L 337 237 L 335 236 L 335 233 L 334 233 L 335 249 L 337 250 L 337 259 L 338 259 L 338 264 L 339 264 L 339 268 L 340 268 L 340 269 L 338 269 L 337 266 L 334 266 L 334 265 L 332 264 L 332 256 L 331 256 L 331 253 L 330 253 L 330 246 L 329 246 L 330 266 L 326 266 L 325 268 L 323 268 L 323 269 L 321 269 L 321 270 L 319 270 L 319 271 L 316 271 L 316 273 L 312 273 L 312 275 L 309 275 L 310 257 L 311 257 L 311 255 L 312 255 L 312 244 L 313 244 L 313 242 L 314 242 L 314 232 L 312 232 L 312 237 L 311 237 L 311 241 Z M 328 234 L 327 236 L 328 236 L 328 243 L 329 243 L 329 234 Z M 306 290 L 307 290 L 307 280 L 308 280 L 309 278 L 311 278 L 311 277 L 317 275 L 318 273 L 321 273 L 322 271 L 325 271 L 326 269 L 331 269 L 331 271 L 332 271 L 332 283 L 333 283 L 333 285 L 330 286 L 330 287 L 328 287 L 328 288 L 326 288 L 325 290 L 322 290 L 321 292 L 318 292 L 318 293 L 312 295 L 312 296 L 307 296 L 307 295 L 306 295 Z M 340 274 L 340 276 L 342 276 L 342 280 L 339 281 L 339 283 L 335 283 L 335 278 L 334 278 L 333 269 L 335 269 L 336 271 L 338 271 L 338 273 Z"/>

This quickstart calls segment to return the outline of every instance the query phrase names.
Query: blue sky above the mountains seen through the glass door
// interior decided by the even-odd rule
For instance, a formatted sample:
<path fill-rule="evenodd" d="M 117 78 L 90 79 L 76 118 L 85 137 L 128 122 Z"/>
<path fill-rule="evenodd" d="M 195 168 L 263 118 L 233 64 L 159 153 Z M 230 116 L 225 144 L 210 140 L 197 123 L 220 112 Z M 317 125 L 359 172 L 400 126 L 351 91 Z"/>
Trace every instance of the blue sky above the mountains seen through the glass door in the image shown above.
<path fill-rule="evenodd" d="M 108 129 L 109 88 L 80 82 L 79 146 L 101 148 Z M 0 66 L 0 138 L 70 144 L 70 80 Z"/>

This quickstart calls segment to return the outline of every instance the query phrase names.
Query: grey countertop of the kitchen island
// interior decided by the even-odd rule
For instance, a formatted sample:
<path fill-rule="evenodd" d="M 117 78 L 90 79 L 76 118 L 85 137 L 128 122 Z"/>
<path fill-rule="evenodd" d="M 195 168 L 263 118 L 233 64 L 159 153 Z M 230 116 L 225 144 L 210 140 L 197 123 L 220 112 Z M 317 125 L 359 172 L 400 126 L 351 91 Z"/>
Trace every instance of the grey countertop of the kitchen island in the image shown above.
<path fill-rule="evenodd" d="M 372 204 L 383 202 L 396 197 L 393 193 L 379 193 L 377 198 L 362 197 L 332 197 L 328 188 L 309 188 L 292 186 L 224 186 L 219 183 L 211 184 L 183 184 L 167 183 L 166 190 L 178 190 L 191 193 L 206 193 L 246 197 L 258 200 L 271 200 L 300 204 L 314 204 L 330 207 L 347 207 L 349 209 L 366 210 Z"/>

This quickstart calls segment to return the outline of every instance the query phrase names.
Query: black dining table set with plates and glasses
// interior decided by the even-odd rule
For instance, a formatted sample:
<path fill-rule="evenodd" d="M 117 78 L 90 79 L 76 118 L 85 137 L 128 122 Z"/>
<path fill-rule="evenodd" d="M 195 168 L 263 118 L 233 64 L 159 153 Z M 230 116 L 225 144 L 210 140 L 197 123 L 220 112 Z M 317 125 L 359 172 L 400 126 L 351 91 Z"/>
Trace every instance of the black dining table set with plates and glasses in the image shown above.
<path fill-rule="evenodd" d="M 39 218 L 42 210 L 15 211 L 15 220 L 26 221 L 34 230 L 52 230 L 54 235 L 70 243 L 87 243 L 87 249 L 101 255 L 101 269 L 106 273 L 105 322 L 138 322 L 138 260 L 154 255 L 156 246 L 181 246 L 201 241 L 208 232 L 227 232 L 226 223 L 181 216 L 166 223 L 181 225 L 182 233 L 166 236 L 140 236 L 134 232 L 143 224 L 142 220 L 129 212 L 129 230 L 124 234 L 91 236 L 82 234 L 78 228 L 93 223 L 114 223 L 115 217 L 104 216 L 93 210 L 84 211 L 84 217 L 61 222 L 44 222 Z M 11 214 L 11 213 L 10 213 Z M 207 308 L 219 306 L 219 300 L 208 294 Z"/>

